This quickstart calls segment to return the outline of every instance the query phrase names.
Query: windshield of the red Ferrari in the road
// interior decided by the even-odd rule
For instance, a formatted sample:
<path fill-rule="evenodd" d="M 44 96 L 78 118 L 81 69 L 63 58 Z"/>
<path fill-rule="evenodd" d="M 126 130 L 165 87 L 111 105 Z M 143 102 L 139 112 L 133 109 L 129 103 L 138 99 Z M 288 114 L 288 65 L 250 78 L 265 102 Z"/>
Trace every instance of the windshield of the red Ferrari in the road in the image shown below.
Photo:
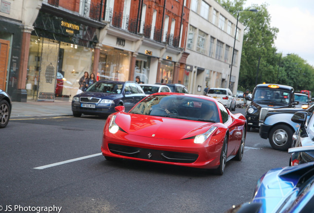
<path fill-rule="evenodd" d="M 205 122 L 220 122 L 215 102 L 178 95 L 148 96 L 137 104 L 130 113 Z"/>

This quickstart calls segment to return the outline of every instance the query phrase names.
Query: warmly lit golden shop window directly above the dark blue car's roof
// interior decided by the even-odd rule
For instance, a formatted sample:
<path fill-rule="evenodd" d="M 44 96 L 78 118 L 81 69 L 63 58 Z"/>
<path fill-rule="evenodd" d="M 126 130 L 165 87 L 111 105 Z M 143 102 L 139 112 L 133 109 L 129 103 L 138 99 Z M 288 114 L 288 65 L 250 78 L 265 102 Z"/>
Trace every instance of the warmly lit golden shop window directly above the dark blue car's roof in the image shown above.
<path fill-rule="evenodd" d="M 100 50 L 97 78 L 127 81 L 129 76 L 130 54 L 114 48 Z"/>

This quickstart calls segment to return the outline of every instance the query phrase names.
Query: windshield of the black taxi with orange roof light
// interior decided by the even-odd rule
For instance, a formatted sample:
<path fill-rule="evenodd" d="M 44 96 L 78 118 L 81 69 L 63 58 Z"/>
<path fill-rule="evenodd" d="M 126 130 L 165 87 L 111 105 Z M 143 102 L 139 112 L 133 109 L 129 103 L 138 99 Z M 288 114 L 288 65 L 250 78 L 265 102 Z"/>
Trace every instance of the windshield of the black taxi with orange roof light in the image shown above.
<path fill-rule="evenodd" d="M 289 104 L 290 102 L 290 93 L 280 89 L 258 88 L 253 96 L 255 102 L 271 102 L 273 104 Z"/>

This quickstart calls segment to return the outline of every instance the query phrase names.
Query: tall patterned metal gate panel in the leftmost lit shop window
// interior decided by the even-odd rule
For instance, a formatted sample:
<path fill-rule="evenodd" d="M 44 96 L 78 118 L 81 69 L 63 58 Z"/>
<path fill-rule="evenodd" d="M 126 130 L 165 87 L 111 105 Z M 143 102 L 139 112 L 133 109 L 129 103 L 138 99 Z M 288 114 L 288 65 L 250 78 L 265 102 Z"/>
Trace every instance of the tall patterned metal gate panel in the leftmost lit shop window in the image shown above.
<path fill-rule="evenodd" d="M 60 43 L 42 38 L 38 101 L 54 101 Z"/>

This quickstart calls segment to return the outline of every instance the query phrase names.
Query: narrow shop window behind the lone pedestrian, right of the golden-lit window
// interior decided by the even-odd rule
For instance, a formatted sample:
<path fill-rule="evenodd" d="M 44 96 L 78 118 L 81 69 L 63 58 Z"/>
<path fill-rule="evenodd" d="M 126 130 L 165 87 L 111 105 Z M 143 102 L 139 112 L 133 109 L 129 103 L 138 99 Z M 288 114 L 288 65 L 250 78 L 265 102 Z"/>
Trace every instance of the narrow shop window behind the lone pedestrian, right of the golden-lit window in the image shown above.
<path fill-rule="evenodd" d="M 148 76 L 151 67 L 151 57 L 138 55 L 135 62 L 134 81 L 136 76 L 140 76 L 141 81 L 148 83 Z"/>

